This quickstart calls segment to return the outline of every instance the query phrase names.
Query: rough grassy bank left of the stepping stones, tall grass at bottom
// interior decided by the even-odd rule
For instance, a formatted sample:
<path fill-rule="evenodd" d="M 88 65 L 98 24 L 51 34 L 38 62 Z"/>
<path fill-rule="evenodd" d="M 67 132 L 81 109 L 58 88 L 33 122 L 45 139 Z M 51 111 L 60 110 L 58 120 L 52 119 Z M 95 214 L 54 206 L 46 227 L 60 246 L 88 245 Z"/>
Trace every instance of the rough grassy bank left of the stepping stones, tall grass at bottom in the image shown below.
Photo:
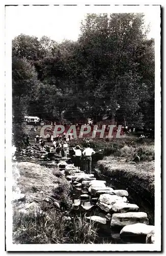
<path fill-rule="evenodd" d="M 84 218 L 70 218 L 70 183 L 58 169 L 20 162 L 17 188 L 25 199 L 13 201 L 16 244 L 94 243 L 97 229 Z"/>

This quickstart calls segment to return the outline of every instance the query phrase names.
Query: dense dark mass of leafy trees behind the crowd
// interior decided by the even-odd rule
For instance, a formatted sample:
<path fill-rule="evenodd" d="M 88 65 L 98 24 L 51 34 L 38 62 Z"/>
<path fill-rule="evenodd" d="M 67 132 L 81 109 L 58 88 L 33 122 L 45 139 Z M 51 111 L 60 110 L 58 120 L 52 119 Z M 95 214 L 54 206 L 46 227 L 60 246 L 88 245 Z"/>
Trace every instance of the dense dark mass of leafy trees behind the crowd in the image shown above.
<path fill-rule="evenodd" d="M 144 15 L 88 14 L 76 42 L 13 39 L 14 123 L 25 113 L 74 122 L 116 116 L 154 126 L 154 40 Z"/>

